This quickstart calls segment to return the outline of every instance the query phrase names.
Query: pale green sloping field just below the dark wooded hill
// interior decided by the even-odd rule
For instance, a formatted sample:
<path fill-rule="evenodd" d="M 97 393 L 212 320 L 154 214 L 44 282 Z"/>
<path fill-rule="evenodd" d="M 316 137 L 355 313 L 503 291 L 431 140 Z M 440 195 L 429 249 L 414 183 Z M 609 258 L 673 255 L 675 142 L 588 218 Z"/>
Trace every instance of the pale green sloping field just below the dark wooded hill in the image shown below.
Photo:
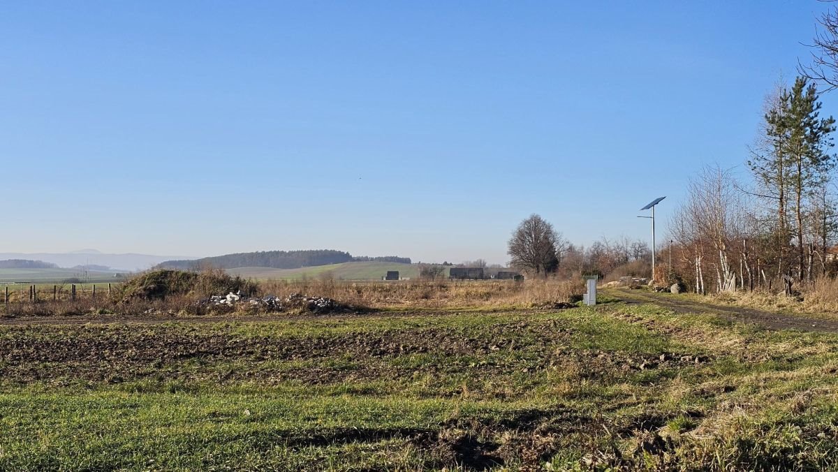
<path fill-rule="evenodd" d="M 331 274 L 337 280 L 380 280 L 387 271 L 399 271 L 399 277 L 419 277 L 418 264 L 399 262 L 344 262 L 327 266 L 300 267 L 297 269 L 275 269 L 272 267 L 236 267 L 227 269 L 231 275 L 260 280 L 299 280 L 323 277 Z"/>

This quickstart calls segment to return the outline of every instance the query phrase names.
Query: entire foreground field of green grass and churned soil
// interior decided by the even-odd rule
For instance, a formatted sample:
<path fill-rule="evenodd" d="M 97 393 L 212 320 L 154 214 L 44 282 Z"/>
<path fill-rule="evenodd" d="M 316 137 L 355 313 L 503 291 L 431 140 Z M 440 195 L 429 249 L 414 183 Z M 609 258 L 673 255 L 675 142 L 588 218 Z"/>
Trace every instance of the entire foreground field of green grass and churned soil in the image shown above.
<path fill-rule="evenodd" d="M 836 469 L 838 336 L 651 305 L 0 326 L 0 469 Z"/>

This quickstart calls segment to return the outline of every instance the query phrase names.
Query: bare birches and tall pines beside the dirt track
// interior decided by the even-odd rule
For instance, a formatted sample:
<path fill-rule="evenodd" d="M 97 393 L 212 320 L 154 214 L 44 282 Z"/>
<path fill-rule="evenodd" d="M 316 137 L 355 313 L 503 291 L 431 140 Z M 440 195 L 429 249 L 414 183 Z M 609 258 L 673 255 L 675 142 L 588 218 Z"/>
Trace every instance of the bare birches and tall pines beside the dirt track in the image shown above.
<path fill-rule="evenodd" d="M 676 263 L 667 277 L 696 293 L 783 287 L 835 274 L 830 259 L 835 211 L 835 119 L 821 117 L 815 82 L 779 84 L 765 112 L 747 169 L 704 169 L 670 222 Z"/>

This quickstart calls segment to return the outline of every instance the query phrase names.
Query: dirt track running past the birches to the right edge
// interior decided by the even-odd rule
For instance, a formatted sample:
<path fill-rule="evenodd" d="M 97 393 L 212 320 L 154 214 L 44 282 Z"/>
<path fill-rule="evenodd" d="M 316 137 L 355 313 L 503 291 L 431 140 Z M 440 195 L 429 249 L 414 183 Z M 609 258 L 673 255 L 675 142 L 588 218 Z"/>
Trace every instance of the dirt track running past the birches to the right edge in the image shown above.
<path fill-rule="evenodd" d="M 714 303 L 698 303 L 670 293 L 650 293 L 625 288 L 609 289 L 605 290 L 605 293 L 620 298 L 626 303 L 653 303 L 676 313 L 715 314 L 738 323 L 759 324 L 768 329 L 838 333 L 838 321 L 811 318 L 806 314 L 782 314 Z"/>

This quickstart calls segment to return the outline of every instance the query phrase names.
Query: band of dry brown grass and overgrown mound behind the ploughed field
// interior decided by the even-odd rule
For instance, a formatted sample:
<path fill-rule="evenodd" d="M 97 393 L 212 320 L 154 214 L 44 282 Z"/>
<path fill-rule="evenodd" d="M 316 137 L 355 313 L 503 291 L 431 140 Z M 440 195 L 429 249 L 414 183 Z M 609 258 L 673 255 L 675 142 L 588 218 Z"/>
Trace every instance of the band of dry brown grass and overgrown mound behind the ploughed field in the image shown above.
<path fill-rule="evenodd" d="M 558 303 L 577 301 L 584 290 L 581 280 L 559 279 L 537 279 L 525 282 L 444 280 L 351 283 L 324 276 L 300 281 L 257 283 L 237 278 L 217 277 L 218 274 L 213 273 L 197 275 L 189 272 L 181 273 L 191 277 L 155 277 L 152 283 L 147 279 L 154 275 L 153 272 L 141 274 L 115 290 L 111 297 L 106 292 L 96 293 L 96 299 L 91 298 L 90 293 L 78 293 L 76 300 L 71 301 L 69 295 L 65 293 L 64 297 L 52 301 L 51 293 L 49 293 L 49 298 L 39 296 L 38 303 L 31 303 L 28 298 L 23 298 L 23 300 L 13 298 L 8 306 L 3 307 L 0 304 L 0 314 L 14 316 L 137 315 L 150 312 L 194 315 L 229 314 L 236 310 L 255 314 L 254 310 L 258 311 L 258 309 L 251 305 L 242 304 L 234 310 L 230 307 L 195 303 L 211 294 L 224 295 L 227 289 L 220 287 L 227 287 L 230 284 L 236 287 L 246 285 L 246 293 L 257 296 L 273 295 L 285 298 L 292 293 L 302 293 L 313 297 L 333 298 L 339 303 L 356 309 L 554 307 Z M 187 278 L 189 280 L 186 280 Z M 228 278 L 230 280 L 227 280 Z M 172 280 L 174 282 L 171 282 Z M 172 287 L 168 287 L 169 284 L 173 284 Z M 155 296 L 143 296 L 147 293 L 153 293 Z M 27 293 L 24 295 L 28 297 Z"/>

